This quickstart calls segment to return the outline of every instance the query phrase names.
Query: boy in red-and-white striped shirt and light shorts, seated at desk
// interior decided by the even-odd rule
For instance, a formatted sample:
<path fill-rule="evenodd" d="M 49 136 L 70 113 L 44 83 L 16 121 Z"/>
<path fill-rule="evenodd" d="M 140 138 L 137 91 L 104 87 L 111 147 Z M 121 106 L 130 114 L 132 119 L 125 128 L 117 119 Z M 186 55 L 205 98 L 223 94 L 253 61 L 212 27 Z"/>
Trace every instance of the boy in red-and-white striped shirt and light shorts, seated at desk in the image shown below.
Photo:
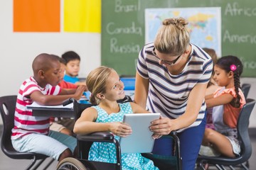
<path fill-rule="evenodd" d="M 60 132 L 49 130 L 50 117 L 34 116 L 26 106 L 37 102 L 41 105 L 60 105 L 67 98 L 79 99 L 85 86 L 73 91 L 60 89 L 60 62 L 58 57 L 42 53 L 32 64 L 33 76 L 29 77 L 18 91 L 14 128 L 11 142 L 18 152 L 36 152 L 61 161 L 75 154 L 76 139 Z"/>

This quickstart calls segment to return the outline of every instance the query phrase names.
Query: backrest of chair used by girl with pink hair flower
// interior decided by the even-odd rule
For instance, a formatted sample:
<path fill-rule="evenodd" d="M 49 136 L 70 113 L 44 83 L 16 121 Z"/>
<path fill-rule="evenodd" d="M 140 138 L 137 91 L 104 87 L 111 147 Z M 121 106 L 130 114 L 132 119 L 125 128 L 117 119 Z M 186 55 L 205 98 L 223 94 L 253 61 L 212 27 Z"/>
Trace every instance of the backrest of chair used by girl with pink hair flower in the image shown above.
<path fill-rule="evenodd" d="M 250 142 L 250 136 L 248 133 L 249 119 L 252 113 L 252 109 L 255 106 L 255 100 L 252 98 L 246 99 L 245 106 L 242 107 L 238 118 L 238 137 L 241 141 L 241 156 L 246 162 L 252 154 L 252 145 Z"/>

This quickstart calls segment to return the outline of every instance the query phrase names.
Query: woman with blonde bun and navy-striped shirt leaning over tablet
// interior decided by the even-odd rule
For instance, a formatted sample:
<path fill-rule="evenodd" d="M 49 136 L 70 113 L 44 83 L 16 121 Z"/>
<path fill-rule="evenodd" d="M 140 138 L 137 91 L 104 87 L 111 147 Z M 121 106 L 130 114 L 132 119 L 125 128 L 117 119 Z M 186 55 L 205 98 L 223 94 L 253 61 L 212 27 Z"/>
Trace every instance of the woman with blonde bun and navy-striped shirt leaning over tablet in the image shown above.
<path fill-rule="evenodd" d="M 159 135 L 177 130 L 182 169 L 195 167 L 206 126 L 206 86 L 213 69 L 211 57 L 189 41 L 184 18 L 168 18 L 154 42 L 139 52 L 134 102 L 161 113 L 150 129 Z M 198 37 L 200 38 L 200 37 Z M 171 154 L 171 140 L 155 141 L 153 153 Z"/>

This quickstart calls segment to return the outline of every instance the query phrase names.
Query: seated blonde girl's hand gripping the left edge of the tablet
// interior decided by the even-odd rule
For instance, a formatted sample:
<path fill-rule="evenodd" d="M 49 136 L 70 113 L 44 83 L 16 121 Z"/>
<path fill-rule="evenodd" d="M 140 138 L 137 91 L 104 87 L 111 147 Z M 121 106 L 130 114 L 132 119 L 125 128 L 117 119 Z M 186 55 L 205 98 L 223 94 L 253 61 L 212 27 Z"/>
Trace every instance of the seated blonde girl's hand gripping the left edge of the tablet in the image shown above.
<path fill-rule="evenodd" d="M 127 137 L 132 134 L 132 128 L 126 123 L 111 123 L 110 132 L 119 137 Z"/>

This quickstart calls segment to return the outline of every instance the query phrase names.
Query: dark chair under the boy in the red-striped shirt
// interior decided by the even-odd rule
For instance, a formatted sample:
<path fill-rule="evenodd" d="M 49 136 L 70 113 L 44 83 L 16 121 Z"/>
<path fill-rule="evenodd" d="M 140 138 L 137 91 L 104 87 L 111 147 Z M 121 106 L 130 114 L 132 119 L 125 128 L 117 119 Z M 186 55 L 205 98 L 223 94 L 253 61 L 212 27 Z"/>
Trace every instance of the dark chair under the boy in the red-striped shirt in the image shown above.
<path fill-rule="evenodd" d="M 17 152 L 11 144 L 11 129 L 14 128 L 14 113 L 16 108 L 17 96 L 1 96 L 0 97 L 0 112 L 3 120 L 4 130 L 1 135 L 1 149 L 7 157 L 11 159 L 31 159 L 31 164 L 26 169 L 37 169 L 47 158 L 44 154 L 36 154 L 32 152 Z M 39 160 L 40 159 L 40 160 Z M 39 160 L 39 162 L 36 161 Z M 46 164 L 46 168 L 54 159 Z"/>

